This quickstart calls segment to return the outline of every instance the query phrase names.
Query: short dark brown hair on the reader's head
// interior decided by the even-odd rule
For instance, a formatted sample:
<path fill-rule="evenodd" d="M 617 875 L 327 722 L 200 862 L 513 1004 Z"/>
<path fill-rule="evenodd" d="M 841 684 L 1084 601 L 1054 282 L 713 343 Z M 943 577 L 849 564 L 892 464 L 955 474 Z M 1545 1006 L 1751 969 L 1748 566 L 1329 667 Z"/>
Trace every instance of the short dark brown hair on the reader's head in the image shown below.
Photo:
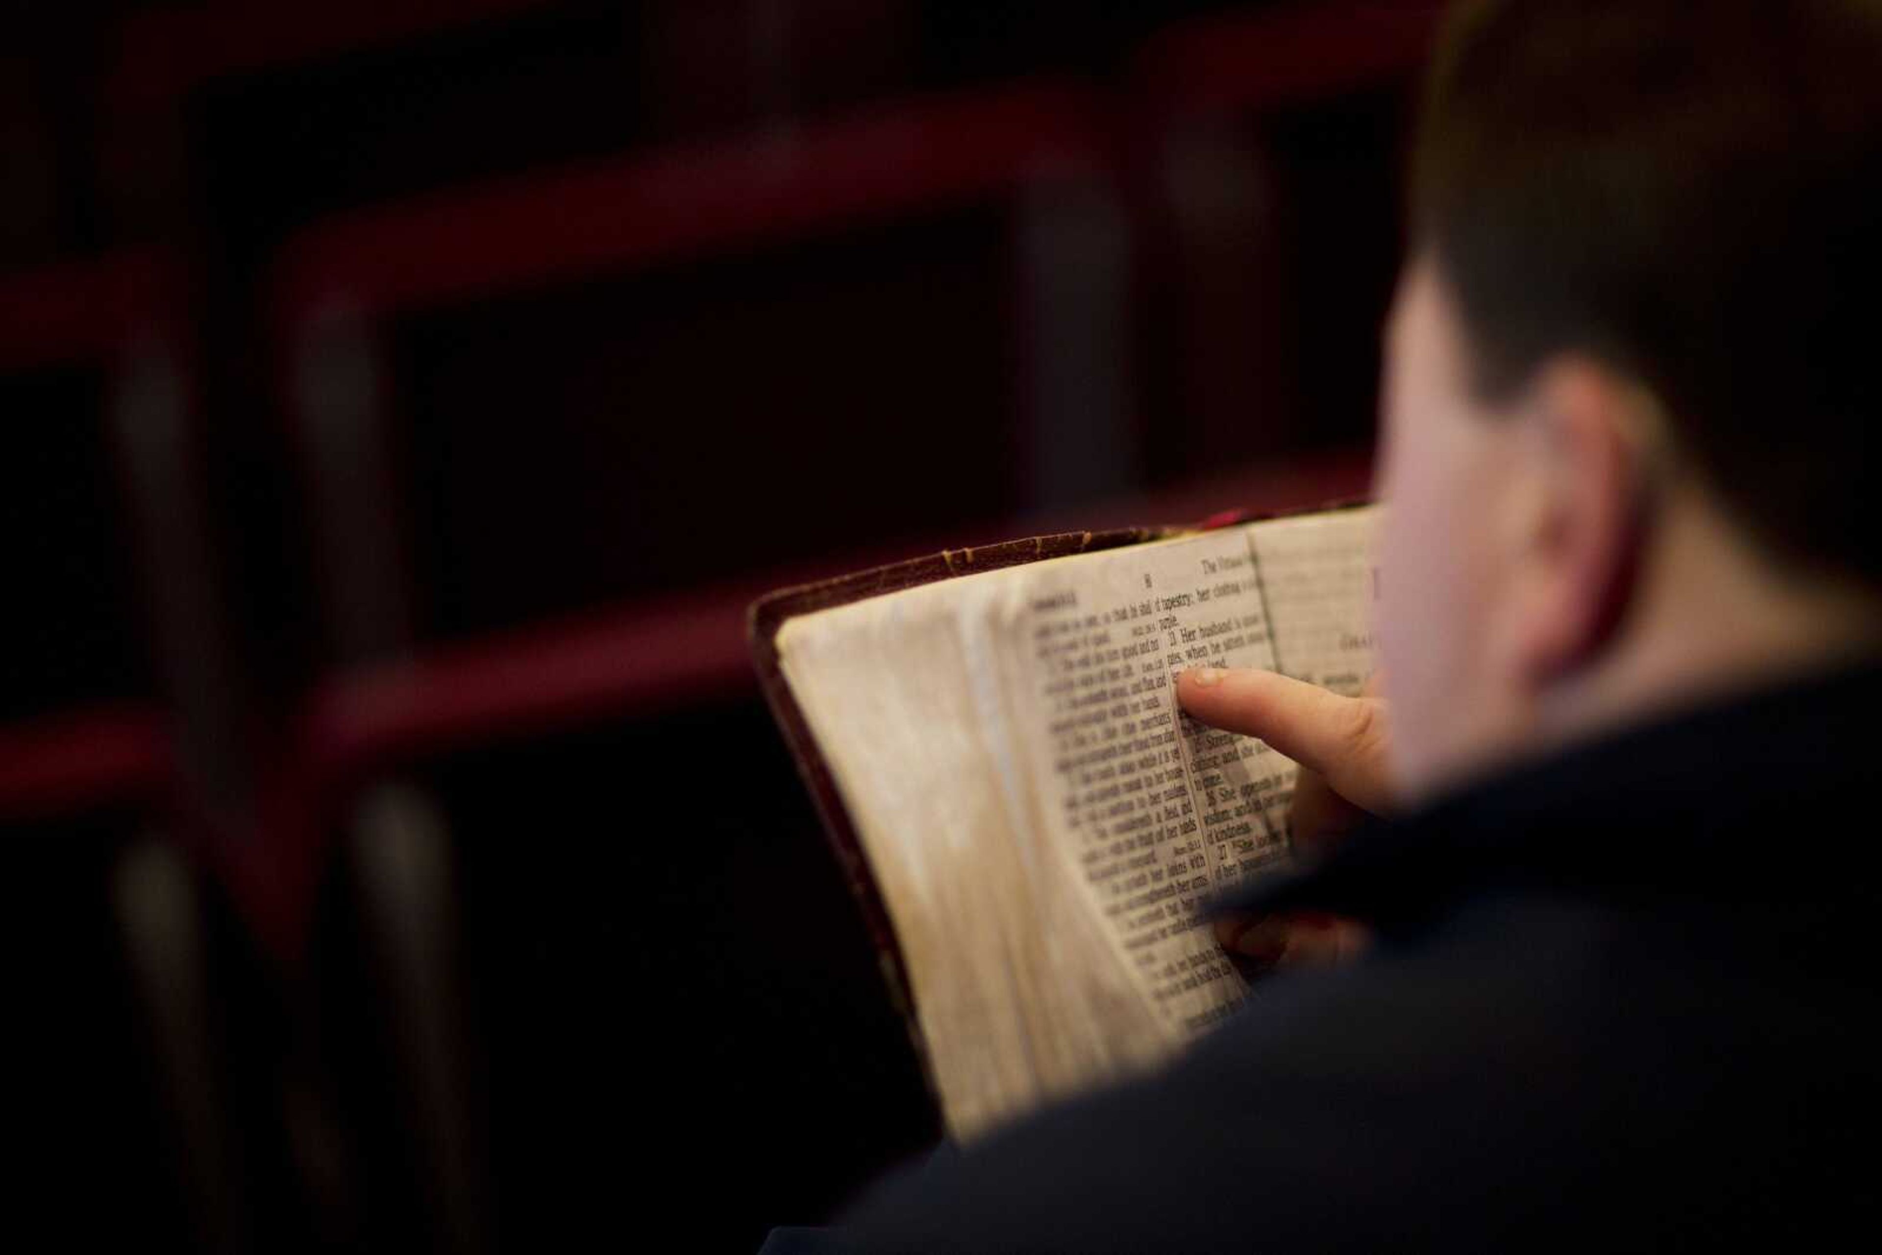
<path fill-rule="evenodd" d="M 1750 534 L 1882 583 L 1882 4 L 1485 0 L 1447 21 L 1412 243 L 1479 389 L 1649 386 Z"/>

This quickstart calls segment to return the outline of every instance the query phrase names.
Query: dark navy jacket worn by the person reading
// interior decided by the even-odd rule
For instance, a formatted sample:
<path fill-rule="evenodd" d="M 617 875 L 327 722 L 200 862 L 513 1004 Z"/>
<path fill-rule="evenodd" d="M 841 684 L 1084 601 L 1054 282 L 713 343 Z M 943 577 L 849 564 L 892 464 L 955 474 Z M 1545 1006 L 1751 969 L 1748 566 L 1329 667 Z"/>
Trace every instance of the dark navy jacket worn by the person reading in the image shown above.
<path fill-rule="evenodd" d="M 1364 830 L 1250 903 L 1370 920 L 1364 960 L 1263 982 L 821 1244 L 1841 1246 L 1882 1167 L 1878 717 L 1882 668 L 1820 674 Z"/>

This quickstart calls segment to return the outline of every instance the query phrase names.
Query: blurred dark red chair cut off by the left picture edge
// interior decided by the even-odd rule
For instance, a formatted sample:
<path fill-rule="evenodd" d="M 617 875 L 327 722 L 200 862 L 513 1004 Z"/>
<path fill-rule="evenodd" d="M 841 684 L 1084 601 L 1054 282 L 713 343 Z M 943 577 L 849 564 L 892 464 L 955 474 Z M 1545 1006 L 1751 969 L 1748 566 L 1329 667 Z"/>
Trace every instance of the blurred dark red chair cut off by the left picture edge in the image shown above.
<path fill-rule="evenodd" d="M 292 1174 L 256 1067 L 273 992 L 215 875 L 241 860 L 209 835 L 239 809 L 239 689 L 175 297 L 149 254 L 0 280 L 13 1223 L 245 1249 Z"/>

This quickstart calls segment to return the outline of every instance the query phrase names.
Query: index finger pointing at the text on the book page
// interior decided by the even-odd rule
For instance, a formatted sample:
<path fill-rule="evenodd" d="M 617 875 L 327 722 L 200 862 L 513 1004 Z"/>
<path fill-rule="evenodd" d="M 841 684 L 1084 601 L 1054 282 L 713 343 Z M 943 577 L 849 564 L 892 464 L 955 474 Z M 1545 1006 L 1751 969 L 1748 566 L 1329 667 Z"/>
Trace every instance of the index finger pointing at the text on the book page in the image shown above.
<path fill-rule="evenodd" d="M 1391 807 L 1385 706 L 1253 668 L 1189 668 L 1176 700 L 1195 719 L 1253 736 L 1327 777 L 1342 798 L 1372 813 Z"/>

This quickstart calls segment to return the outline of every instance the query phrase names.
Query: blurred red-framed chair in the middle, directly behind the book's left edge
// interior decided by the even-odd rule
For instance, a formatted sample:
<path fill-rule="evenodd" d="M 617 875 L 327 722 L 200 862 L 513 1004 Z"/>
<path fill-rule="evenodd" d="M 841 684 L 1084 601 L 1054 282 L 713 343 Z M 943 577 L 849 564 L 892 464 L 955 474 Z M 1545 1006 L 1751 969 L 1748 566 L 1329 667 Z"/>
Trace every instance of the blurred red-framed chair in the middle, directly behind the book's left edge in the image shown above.
<path fill-rule="evenodd" d="M 830 956 L 826 988 L 860 993 L 826 1007 L 817 1031 L 836 1039 L 862 1018 L 854 1041 L 898 1041 L 789 760 L 749 700 L 742 612 L 830 551 L 990 527 L 1129 480 L 1127 350 L 1114 339 L 1127 252 L 1108 160 L 1093 102 L 1037 83 L 435 194 L 339 216 L 286 248 L 282 397 L 333 666 L 309 704 L 307 760 L 324 828 L 348 834 L 361 935 L 397 937 L 397 920 L 422 914 L 403 905 L 407 882 L 373 869 L 375 847 L 423 845 L 408 862 L 444 879 L 418 892 L 467 894 L 452 901 L 474 918 L 440 935 L 461 926 L 484 956 L 499 1110 L 469 1120 L 510 1129 L 497 1180 L 512 1208 L 540 1217 L 529 1202 L 553 1174 L 598 1170 L 602 1148 L 587 1142 L 553 1159 L 518 1150 L 598 1136 L 531 1080 L 572 1042 L 582 1067 L 555 1069 L 553 1093 L 589 1086 L 625 1118 L 614 1104 L 638 1103 L 630 1076 L 698 1069 L 668 1056 L 687 1039 L 649 1035 L 649 1020 L 689 1024 L 693 1048 L 721 1050 L 777 988 L 804 986 L 798 975 L 770 993 L 711 993 L 753 973 L 751 954 L 734 952 L 743 922 L 725 914 L 740 894 L 821 903 L 805 952 Z M 597 822 L 647 822 L 664 790 L 678 807 L 710 792 L 726 768 L 702 743 L 749 764 L 742 779 L 764 764 L 774 783 L 728 790 L 687 820 L 691 852 L 582 839 Z M 482 766 L 465 775 L 469 762 Z M 540 832 L 493 826 L 527 798 Z M 574 798 L 597 815 L 576 820 Z M 781 817 L 768 798 L 804 815 Z M 446 828 L 463 839 L 448 843 Z M 678 875 L 687 860 L 693 877 Z M 757 867 L 772 867 L 770 882 L 700 898 Z M 642 899 L 642 884 L 659 890 Z M 598 894 L 621 898 L 604 907 Z M 687 918 L 708 916 L 726 929 L 721 954 L 679 941 Z M 534 980 L 506 977 L 508 952 L 533 945 L 518 924 L 553 929 L 542 945 L 555 958 Z M 717 973 L 710 984 L 659 977 L 646 1005 L 544 1001 L 593 997 L 578 973 L 604 980 L 634 956 L 683 963 L 685 952 Z M 646 980 L 657 967 L 634 971 Z M 422 1007 L 420 984 L 397 1003 Z M 762 1014 L 798 1024 L 805 1009 Z M 555 1027 L 519 1027 L 538 1022 Z M 418 1071 L 420 1056 L 401 1067 Z M 885 1069 L 896 1076 L 883 1086 L 918 1101 L 905 1044 L 849 1071 Z M 760 1089 L 721 1093 L 745 1095 L 745 1118 L 775 1108 L 790 1112 L 781 1123 L 813 1121 L 804 1104 L 819 1095 Z M 674 1148 L 661 1180 L 710 1170 L 732 1136 L 721 1093 L 659 1125 Z M 877 1101 L 856 1136 L 894 1112 Z M 452 1120 L 416 1112 L 407 1125 Z M 429 1135 L 431 1161 L 446 1140 Z M 830 1187 L 790 1176 L 813 1167 L 774 1174 L 777 1206 L 790 1189 Z"/>

